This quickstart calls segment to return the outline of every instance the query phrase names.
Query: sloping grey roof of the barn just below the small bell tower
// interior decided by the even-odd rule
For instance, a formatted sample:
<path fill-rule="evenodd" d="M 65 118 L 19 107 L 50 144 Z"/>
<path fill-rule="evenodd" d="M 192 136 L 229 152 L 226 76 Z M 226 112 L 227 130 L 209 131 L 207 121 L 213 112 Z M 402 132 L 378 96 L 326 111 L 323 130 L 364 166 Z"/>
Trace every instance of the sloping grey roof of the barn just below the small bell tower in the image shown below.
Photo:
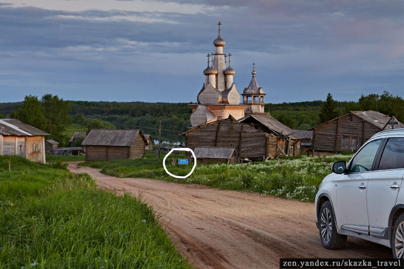
<path fill-rule="evenodd" d="M 292 139 L 300 139 L 300 136 L 297 135 L 294 130 L 290 129 L 283 123 L 280 123 L 268 113 L 253 113 L 240 119 L 239 122 L 243 122 L 248 118 L 255 119 L 277 135 L 282 134 L 282 136 L 289 136 Z"/>

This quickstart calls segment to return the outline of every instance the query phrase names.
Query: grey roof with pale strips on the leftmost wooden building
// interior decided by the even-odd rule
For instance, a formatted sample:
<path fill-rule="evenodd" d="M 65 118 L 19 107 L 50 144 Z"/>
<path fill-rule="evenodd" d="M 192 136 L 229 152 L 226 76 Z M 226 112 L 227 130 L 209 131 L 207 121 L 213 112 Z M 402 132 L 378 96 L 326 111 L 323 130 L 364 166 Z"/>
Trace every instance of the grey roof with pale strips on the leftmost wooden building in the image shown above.
<path fill-rule="evenodd" d="M 12 136 L 49 135 L 17 119 L 0 119 L 0 134 Z"/>

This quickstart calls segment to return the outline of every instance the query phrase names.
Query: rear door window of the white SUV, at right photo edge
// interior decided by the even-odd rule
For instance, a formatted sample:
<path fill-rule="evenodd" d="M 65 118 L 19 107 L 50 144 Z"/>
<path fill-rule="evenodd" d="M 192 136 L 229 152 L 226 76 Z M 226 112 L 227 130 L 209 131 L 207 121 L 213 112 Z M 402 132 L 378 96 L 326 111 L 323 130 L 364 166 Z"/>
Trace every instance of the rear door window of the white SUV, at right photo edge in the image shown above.
<path fill-rule="evenodd" d="M 384 147 L 378 170 L 404 168 L 404 138 L 389 138 Z"/>

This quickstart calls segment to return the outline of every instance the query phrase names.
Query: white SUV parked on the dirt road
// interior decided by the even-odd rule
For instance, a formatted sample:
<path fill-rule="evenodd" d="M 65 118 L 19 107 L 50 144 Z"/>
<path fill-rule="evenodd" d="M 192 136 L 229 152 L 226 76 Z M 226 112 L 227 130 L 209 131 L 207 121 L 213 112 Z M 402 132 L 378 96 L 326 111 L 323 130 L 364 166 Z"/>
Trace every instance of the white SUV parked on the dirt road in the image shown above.
<path fill-rule="evenodd" d="M 336 162 L 316 195 L 316 224 L 325 248 L 346 236 L 391 247 L 404 257 L 404 129 L 382 131 L 349 161 Z"/>

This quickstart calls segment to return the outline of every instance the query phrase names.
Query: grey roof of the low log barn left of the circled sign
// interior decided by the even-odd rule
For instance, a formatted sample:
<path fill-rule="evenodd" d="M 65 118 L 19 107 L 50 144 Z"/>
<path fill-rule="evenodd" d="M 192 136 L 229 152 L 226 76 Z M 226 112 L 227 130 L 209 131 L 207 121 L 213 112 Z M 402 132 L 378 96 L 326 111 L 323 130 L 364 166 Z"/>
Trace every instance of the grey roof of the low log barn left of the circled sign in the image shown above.
<path fill-rule="evenodd" d="M 81 144 L 84 146 L 130 147 L 138 135 L 142 137 L 147 145 L 147 140 L 140 129 L 92 129 Z"/>

